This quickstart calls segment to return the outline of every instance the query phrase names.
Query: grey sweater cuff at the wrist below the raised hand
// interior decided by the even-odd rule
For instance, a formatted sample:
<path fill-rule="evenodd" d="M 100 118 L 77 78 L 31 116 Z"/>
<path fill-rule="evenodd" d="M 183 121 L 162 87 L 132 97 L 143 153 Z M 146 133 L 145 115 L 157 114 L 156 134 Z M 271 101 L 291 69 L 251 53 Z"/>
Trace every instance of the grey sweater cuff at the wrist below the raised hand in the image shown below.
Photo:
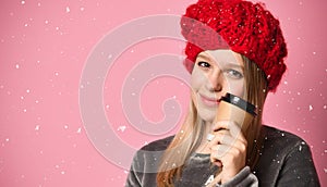
<path fill-rule="evenodd" d="M 250 167 L 245 166 L 231 180 L 222 185 L 217 185 L 217 187 L 234 187 L 234 186 L 257 187 L 258 180 L 257 177 L 253 173 L 251 173 Z"/>

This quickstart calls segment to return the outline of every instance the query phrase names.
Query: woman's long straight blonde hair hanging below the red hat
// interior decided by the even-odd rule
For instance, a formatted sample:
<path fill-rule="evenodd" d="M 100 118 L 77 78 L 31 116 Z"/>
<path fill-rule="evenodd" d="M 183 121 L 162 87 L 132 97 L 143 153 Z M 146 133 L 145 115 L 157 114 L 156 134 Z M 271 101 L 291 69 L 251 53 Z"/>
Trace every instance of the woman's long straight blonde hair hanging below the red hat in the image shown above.
<path fill-rule="evenodd" d="M 261 137 L 263 107 L 267 96 L 267 82 L 265 74 L 257 65 L 242 55 L 244 62 L 245 98 L 257 107 L 257 116 L 253 120 L 243 134 L 247 140 L 246 165 L 255 166 L 263 137 Z M 198 147 L 203 138 L 204 125 L 197 115 L 193 100 L 189 108 L 189 113 L 181 130 L 174 136 L 165 151 L 157 174 L 157 185 L 159 187 L 173 187 L 174 179 L 180 178 L 186 159 Z"/>

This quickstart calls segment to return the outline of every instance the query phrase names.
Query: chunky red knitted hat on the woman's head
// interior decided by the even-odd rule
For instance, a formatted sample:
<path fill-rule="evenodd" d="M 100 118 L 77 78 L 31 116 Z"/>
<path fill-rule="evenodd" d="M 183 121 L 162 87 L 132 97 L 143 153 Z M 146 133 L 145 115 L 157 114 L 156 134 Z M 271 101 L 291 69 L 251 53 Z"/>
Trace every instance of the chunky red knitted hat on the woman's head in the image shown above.
<path fill-rule="evenodd" d="M 190 72 L 199 52 L 229 48 L 256 63 L 266 74 L 268 89 L 276 90 L 286 71 L 287 47 L 279 21 L 261 3 L 198 0 L 186 9 L 181 27 Z"/>

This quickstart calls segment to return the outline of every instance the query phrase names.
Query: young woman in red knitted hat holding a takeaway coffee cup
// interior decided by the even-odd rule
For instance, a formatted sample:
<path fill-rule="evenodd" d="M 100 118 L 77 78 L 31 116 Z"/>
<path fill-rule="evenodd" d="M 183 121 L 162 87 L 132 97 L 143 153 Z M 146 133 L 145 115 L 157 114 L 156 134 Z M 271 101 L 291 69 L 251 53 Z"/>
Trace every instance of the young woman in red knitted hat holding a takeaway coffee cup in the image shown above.
<path fill-rule="evenodd" d="M 286 71 L 278 20 L 259 3 L 199 0 L 181 27 L 189 41 L 190 111 L 175 136 L 137 151 L 126 186 L 319 186 L 308 146 L 262 125 L 266 96 Z M 226 94 L 257 108 L 249 125 L 217 120 Z"/>

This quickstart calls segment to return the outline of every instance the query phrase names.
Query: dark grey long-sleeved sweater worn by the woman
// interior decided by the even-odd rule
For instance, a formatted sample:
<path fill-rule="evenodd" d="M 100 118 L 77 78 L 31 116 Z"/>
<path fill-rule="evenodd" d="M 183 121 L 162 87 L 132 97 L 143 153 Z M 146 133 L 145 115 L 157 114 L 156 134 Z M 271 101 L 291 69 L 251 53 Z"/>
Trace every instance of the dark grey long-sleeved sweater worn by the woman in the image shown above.
<path fill-rule="evenodd" d="M 245 166 L 230 182 L 217 186 L 320 186 L 308 146 L 298 136 L 263 126 L 264 147 L 257 165 Z M 173 137 L 154 141 L 136 152 L 126 179 L 128 187 L 156 187 L 156 171 L 162 151 Z M 208 154 L 192 154 L 175 187 L 205 187 L 216 173 Z"/>

